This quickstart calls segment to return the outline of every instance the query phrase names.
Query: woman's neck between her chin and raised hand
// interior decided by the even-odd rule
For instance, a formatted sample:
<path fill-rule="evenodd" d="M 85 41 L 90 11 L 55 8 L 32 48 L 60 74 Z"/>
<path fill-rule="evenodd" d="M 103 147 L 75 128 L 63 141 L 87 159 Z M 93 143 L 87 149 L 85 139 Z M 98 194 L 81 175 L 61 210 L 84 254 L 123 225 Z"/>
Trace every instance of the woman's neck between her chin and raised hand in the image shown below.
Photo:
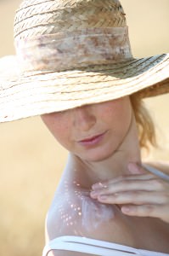
<path fill-rule="evenodd" d="M 63 178 L 78 183 L 82 188 L 91 189 L 93 183 L 102 182 L 129 173 L 128 163 L 141 163 L 138 131 L 132 120 L 127 136 L 109 158 L 98 162 L 82 160 L 70 154 Z"/>

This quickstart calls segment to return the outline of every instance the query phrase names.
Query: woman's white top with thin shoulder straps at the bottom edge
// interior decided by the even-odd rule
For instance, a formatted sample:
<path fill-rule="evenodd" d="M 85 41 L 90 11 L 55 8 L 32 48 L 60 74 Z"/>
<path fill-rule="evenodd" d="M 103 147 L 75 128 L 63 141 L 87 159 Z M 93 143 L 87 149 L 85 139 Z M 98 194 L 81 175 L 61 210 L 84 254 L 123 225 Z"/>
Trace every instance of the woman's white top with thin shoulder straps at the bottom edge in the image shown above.
<path fill-rule="evenodd" d="M 149 172 L 169 181 L 169 175 L 144 165 Z M 51 250 L 65 250 L 70 252 L 88 253 L 100 256 L 169 256 L 169 253 L 158 253 L 127 247 L 118 243 L 101 241 L 83 236 L 59 236 L 48 242 L 44 247 L 42 256 L 48 256 Z"/>

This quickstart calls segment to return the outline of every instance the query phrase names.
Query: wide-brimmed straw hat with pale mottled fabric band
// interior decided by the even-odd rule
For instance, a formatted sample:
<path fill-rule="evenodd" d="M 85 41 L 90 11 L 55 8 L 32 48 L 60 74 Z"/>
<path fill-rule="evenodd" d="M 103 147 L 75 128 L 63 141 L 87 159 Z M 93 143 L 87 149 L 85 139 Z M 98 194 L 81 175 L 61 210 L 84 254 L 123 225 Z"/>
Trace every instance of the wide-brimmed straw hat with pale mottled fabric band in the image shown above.
<path fill-rule="evenodd" d="M 169 92 L 169 54 L 132 56 L 118 0 L 25 0 L 0 60 L 0 121 Z"/>

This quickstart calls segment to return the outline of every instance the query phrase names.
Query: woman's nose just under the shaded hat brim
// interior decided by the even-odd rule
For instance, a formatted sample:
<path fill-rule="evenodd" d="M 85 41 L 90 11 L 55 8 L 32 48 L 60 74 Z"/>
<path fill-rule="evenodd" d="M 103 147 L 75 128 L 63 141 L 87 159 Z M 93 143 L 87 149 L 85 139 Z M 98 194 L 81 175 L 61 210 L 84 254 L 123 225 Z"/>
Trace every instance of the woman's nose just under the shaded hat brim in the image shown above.
<path fill-rule="evenodd" d="M 89 131 L 96 123 L 96 116 L 90 106 L 82 106 L 74 109 L 74 125 L 82 131 Z"/>

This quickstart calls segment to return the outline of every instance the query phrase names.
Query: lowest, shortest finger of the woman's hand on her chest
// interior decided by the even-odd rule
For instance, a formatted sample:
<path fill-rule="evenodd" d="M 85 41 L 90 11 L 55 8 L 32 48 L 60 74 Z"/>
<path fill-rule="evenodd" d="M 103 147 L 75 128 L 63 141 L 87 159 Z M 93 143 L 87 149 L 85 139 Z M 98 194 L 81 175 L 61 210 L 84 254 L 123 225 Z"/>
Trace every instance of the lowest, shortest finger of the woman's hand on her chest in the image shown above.
<path fill-rule="evenodd" d="M 154 217 L 161 218 L 163 221 L 169 223 L 169 216 L 167 212 L 169 211 L 169 206 L 161 205 L 143 205 L 143 206 L 122 206 L 121 212 L 130 216 L 138 217 Z M 165 213 L 166 212 L 166 213 Z"/>

